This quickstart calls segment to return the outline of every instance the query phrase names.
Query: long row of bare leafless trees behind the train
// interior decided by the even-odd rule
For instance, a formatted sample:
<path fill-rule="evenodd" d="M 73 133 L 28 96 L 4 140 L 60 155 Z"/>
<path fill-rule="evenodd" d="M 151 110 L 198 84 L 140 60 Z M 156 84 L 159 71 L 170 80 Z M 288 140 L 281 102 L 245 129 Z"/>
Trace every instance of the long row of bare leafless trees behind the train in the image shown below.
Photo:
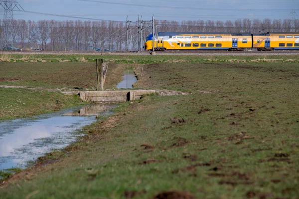
<path fill-rule="evenodd" d="M 143 22 L 143 39 L 151 33 L 152 23 Z M 237 20 L 155 20 L 155 30 L 187 32 L 299 32 L 299 19 L 237 19 Z M 130 23 L 130 50 L 138 48 L 138 24 Z M 81 20 L 0 20 L 0 49 L 5 46 L 23 50 L 87 51 L 95 49 L 124 50 L 127 40 L 126 22 Z M 143 42 L 142 42 L 143 43 Z M 142 44 L 143 45 L 143 44 Z"/>

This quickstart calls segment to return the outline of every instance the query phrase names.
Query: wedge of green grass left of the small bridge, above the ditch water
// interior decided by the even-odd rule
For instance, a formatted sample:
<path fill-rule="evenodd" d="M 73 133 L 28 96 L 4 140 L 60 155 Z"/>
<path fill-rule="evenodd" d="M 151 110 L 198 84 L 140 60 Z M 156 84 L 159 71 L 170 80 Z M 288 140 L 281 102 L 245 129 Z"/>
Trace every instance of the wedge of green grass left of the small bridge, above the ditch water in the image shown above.
<path fill-rule="evenodd" d="M 85 104 L 78 96 L 59 92 L 0 88 L 0 120 L 29 117 Z"/>

